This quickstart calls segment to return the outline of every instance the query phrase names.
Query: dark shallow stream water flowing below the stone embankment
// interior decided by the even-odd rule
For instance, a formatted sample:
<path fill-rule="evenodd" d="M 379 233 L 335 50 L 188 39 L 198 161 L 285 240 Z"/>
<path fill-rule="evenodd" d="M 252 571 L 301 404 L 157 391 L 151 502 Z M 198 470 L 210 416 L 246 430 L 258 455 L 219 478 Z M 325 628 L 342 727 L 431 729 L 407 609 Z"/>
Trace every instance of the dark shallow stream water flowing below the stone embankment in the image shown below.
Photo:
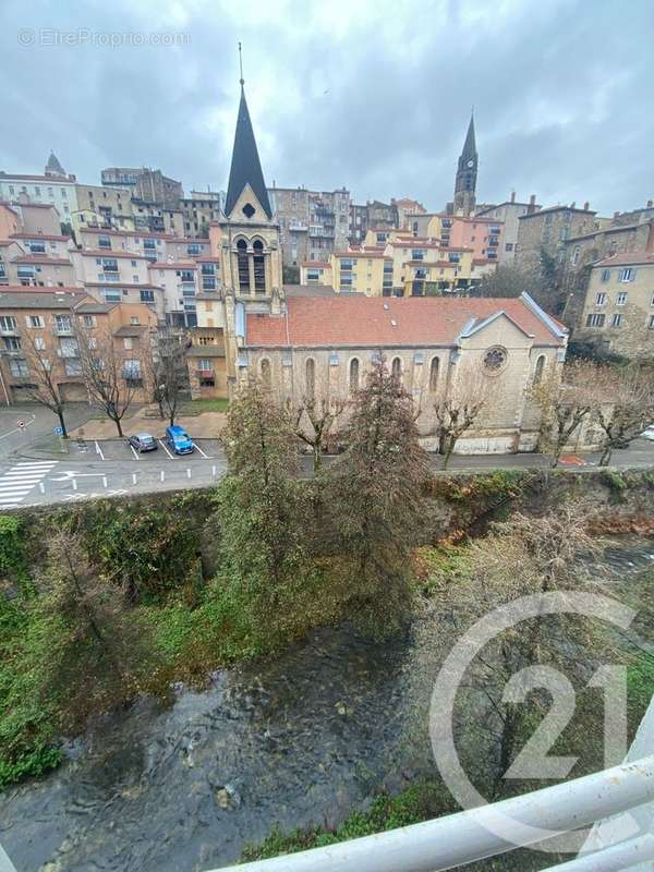
<path fill-rule="evenodd" d="M 646 540 L 607 559 L 621 580 L 653 562 Z M 17 872 L 203 872 L 276 823 L 336 823 L 432 771 L 438 658 L 421 632 L 374 644 L 320 630 L 274 662 L 220 671 L 205 692 L 180 689 L 166 708 L 141 700 L 47 778 L 0 795 L 0 843 Z"/>

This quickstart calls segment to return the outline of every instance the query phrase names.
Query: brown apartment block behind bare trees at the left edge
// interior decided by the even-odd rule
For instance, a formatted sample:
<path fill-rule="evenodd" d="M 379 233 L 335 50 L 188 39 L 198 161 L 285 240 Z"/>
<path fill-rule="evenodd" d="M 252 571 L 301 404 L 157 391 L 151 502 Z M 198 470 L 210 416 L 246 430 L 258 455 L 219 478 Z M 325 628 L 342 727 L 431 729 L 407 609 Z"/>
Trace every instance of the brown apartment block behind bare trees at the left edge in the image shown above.
<path fill-rule="evenodd" d="M 156 316 L 143 305 L 107 305 L 83 290 L 27 291 L 3 288 L 0 292 L 0 375 L 3 400 L 28 399 L 29 386 L 38 384 L 39 360 L 45 362 L 64 400 L 85 401 L 80 328 L 95 337 L 99 354 L 111 346 L 122 361 L 123 380 L 136 390 L 135 399 L 149 399 L 146 355 Z"/>

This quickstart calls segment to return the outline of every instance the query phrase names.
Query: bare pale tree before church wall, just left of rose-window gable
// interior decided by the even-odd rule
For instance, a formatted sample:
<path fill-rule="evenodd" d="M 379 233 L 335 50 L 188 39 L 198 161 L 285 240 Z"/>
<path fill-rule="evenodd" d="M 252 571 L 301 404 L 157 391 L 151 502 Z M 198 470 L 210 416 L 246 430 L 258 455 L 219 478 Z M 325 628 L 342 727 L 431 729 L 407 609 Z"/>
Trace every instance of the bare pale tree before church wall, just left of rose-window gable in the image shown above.
<path fill-rule="evenodd" d="M 458 439 L 477 421 L 488 399 L 488 382 L 469 367 L 459 373 L 452 390 L 434 403 L 438 453 L 447 469 Z"/>

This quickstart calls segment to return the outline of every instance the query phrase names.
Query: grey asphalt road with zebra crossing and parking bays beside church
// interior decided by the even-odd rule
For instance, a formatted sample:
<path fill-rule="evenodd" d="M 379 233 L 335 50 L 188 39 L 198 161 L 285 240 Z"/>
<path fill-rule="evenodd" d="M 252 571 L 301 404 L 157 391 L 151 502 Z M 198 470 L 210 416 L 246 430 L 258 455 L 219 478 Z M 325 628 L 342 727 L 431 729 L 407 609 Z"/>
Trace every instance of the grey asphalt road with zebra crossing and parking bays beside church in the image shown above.
<path fill-rule="evenodd" d="M 25 446 L 10 457 L 0 458 L 0 510 L 52 502 L 81 502 L 102 496 L 126 496 L 157 491 L 205 487 L 217 482 L 227 470 L 225 452 L 217 439 L 196 439 L 193 455 L 174 456 L 165 443 L 158 449 L 137 455 L 125 440 L 77 440 L 68 444 L 66 455 Z M 593 467 L 597 455 L 565 458 L 569 468 Z M 433 457 L 435 470 L 440 457 Z M 611 465 L 654 465 L 654 443 L 637 439 L 623 451 L 616 451 Z M 548 468 L 542 455 L 455 456 L 451 471 Z M 305 474 L 311 459 L 304 458 Z"/>

